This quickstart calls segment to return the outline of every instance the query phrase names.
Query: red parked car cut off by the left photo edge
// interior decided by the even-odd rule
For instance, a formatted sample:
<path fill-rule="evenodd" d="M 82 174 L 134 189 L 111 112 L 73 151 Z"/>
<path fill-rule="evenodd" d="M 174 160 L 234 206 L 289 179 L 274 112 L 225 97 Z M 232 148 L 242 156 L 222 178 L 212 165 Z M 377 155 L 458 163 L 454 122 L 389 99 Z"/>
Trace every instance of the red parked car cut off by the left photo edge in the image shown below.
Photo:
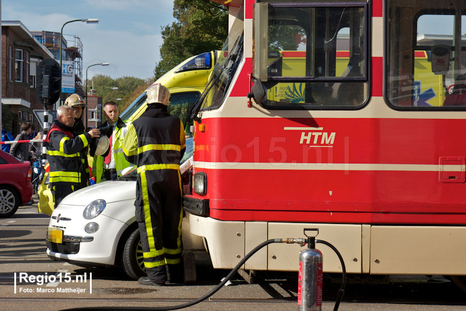
<path fill-rule="evenodd" d="M 31 163 L 0 150 L 0 218 L 13 215 L 31 197 Z"/>

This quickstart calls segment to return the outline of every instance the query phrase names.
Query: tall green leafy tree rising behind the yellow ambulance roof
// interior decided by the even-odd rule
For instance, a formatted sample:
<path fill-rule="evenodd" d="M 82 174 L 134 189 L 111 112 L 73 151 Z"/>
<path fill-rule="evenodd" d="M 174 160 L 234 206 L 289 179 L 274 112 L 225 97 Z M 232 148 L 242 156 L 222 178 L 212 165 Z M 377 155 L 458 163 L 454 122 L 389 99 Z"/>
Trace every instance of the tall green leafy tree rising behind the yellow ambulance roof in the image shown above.
<path fill-rule="evenodd" d="M 161 60 L 154 69 L 155 78 L 188 57 L 220 50 L 228 34 L 228 11 L 224 5 L 205 0 L 175 0 L 172 25 L 162 28 Z"/>

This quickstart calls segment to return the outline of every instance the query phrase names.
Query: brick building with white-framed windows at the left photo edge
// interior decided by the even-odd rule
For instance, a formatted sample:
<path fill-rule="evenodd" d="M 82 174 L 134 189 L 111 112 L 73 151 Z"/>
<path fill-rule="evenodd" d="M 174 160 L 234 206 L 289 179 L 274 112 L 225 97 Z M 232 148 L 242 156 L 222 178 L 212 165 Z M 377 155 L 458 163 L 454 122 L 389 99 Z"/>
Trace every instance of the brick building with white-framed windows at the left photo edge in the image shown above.
<path fill-rule="evenodd" d="M 2 122 L 13 135 L 21 132 L 25 121 L 42 131 L 33 110 L 43 110 L 36 98 L 36 69 L 41 60 L 53 54 L 38 42 L 19 20 L 2 20 L 2 105 L 8 105 L 13 117 Z"/>

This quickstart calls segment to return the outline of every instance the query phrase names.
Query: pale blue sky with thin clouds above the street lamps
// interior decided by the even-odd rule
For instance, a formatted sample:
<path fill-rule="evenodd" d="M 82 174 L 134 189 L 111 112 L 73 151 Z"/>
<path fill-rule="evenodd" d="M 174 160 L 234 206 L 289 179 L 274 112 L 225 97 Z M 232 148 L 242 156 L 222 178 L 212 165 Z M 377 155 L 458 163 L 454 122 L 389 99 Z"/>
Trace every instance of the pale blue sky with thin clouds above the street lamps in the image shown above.
<path fill-rule="evenodd" d="M 63 36 L 76 35 L 83 45 L 83 79 L 86 68 L 112 78 L 149 78 L 160 60 L 162 26 L 172 24 L 173 0 L 3 0 L 2 20 L 19 20 L 29 30 L 60 32 L 68 20 L 98 18 L 98 24 L 69 23 Z"/>

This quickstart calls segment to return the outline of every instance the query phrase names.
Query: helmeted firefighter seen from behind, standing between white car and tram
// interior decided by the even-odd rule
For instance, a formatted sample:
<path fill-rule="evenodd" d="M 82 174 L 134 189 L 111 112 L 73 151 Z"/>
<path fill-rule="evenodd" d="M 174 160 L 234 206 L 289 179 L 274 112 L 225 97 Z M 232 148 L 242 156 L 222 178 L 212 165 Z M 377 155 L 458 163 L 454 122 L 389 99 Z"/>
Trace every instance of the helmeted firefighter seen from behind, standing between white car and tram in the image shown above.
<path fill-rule="evenodd" d="M 147 90 L 147 109 L 128 126 L 123 153 L 137 165 L 136 220 L 147 277 L 143 285 L 181 282 L 183 122 L 167 112 L 170 92 L 160 84 Z"/>

